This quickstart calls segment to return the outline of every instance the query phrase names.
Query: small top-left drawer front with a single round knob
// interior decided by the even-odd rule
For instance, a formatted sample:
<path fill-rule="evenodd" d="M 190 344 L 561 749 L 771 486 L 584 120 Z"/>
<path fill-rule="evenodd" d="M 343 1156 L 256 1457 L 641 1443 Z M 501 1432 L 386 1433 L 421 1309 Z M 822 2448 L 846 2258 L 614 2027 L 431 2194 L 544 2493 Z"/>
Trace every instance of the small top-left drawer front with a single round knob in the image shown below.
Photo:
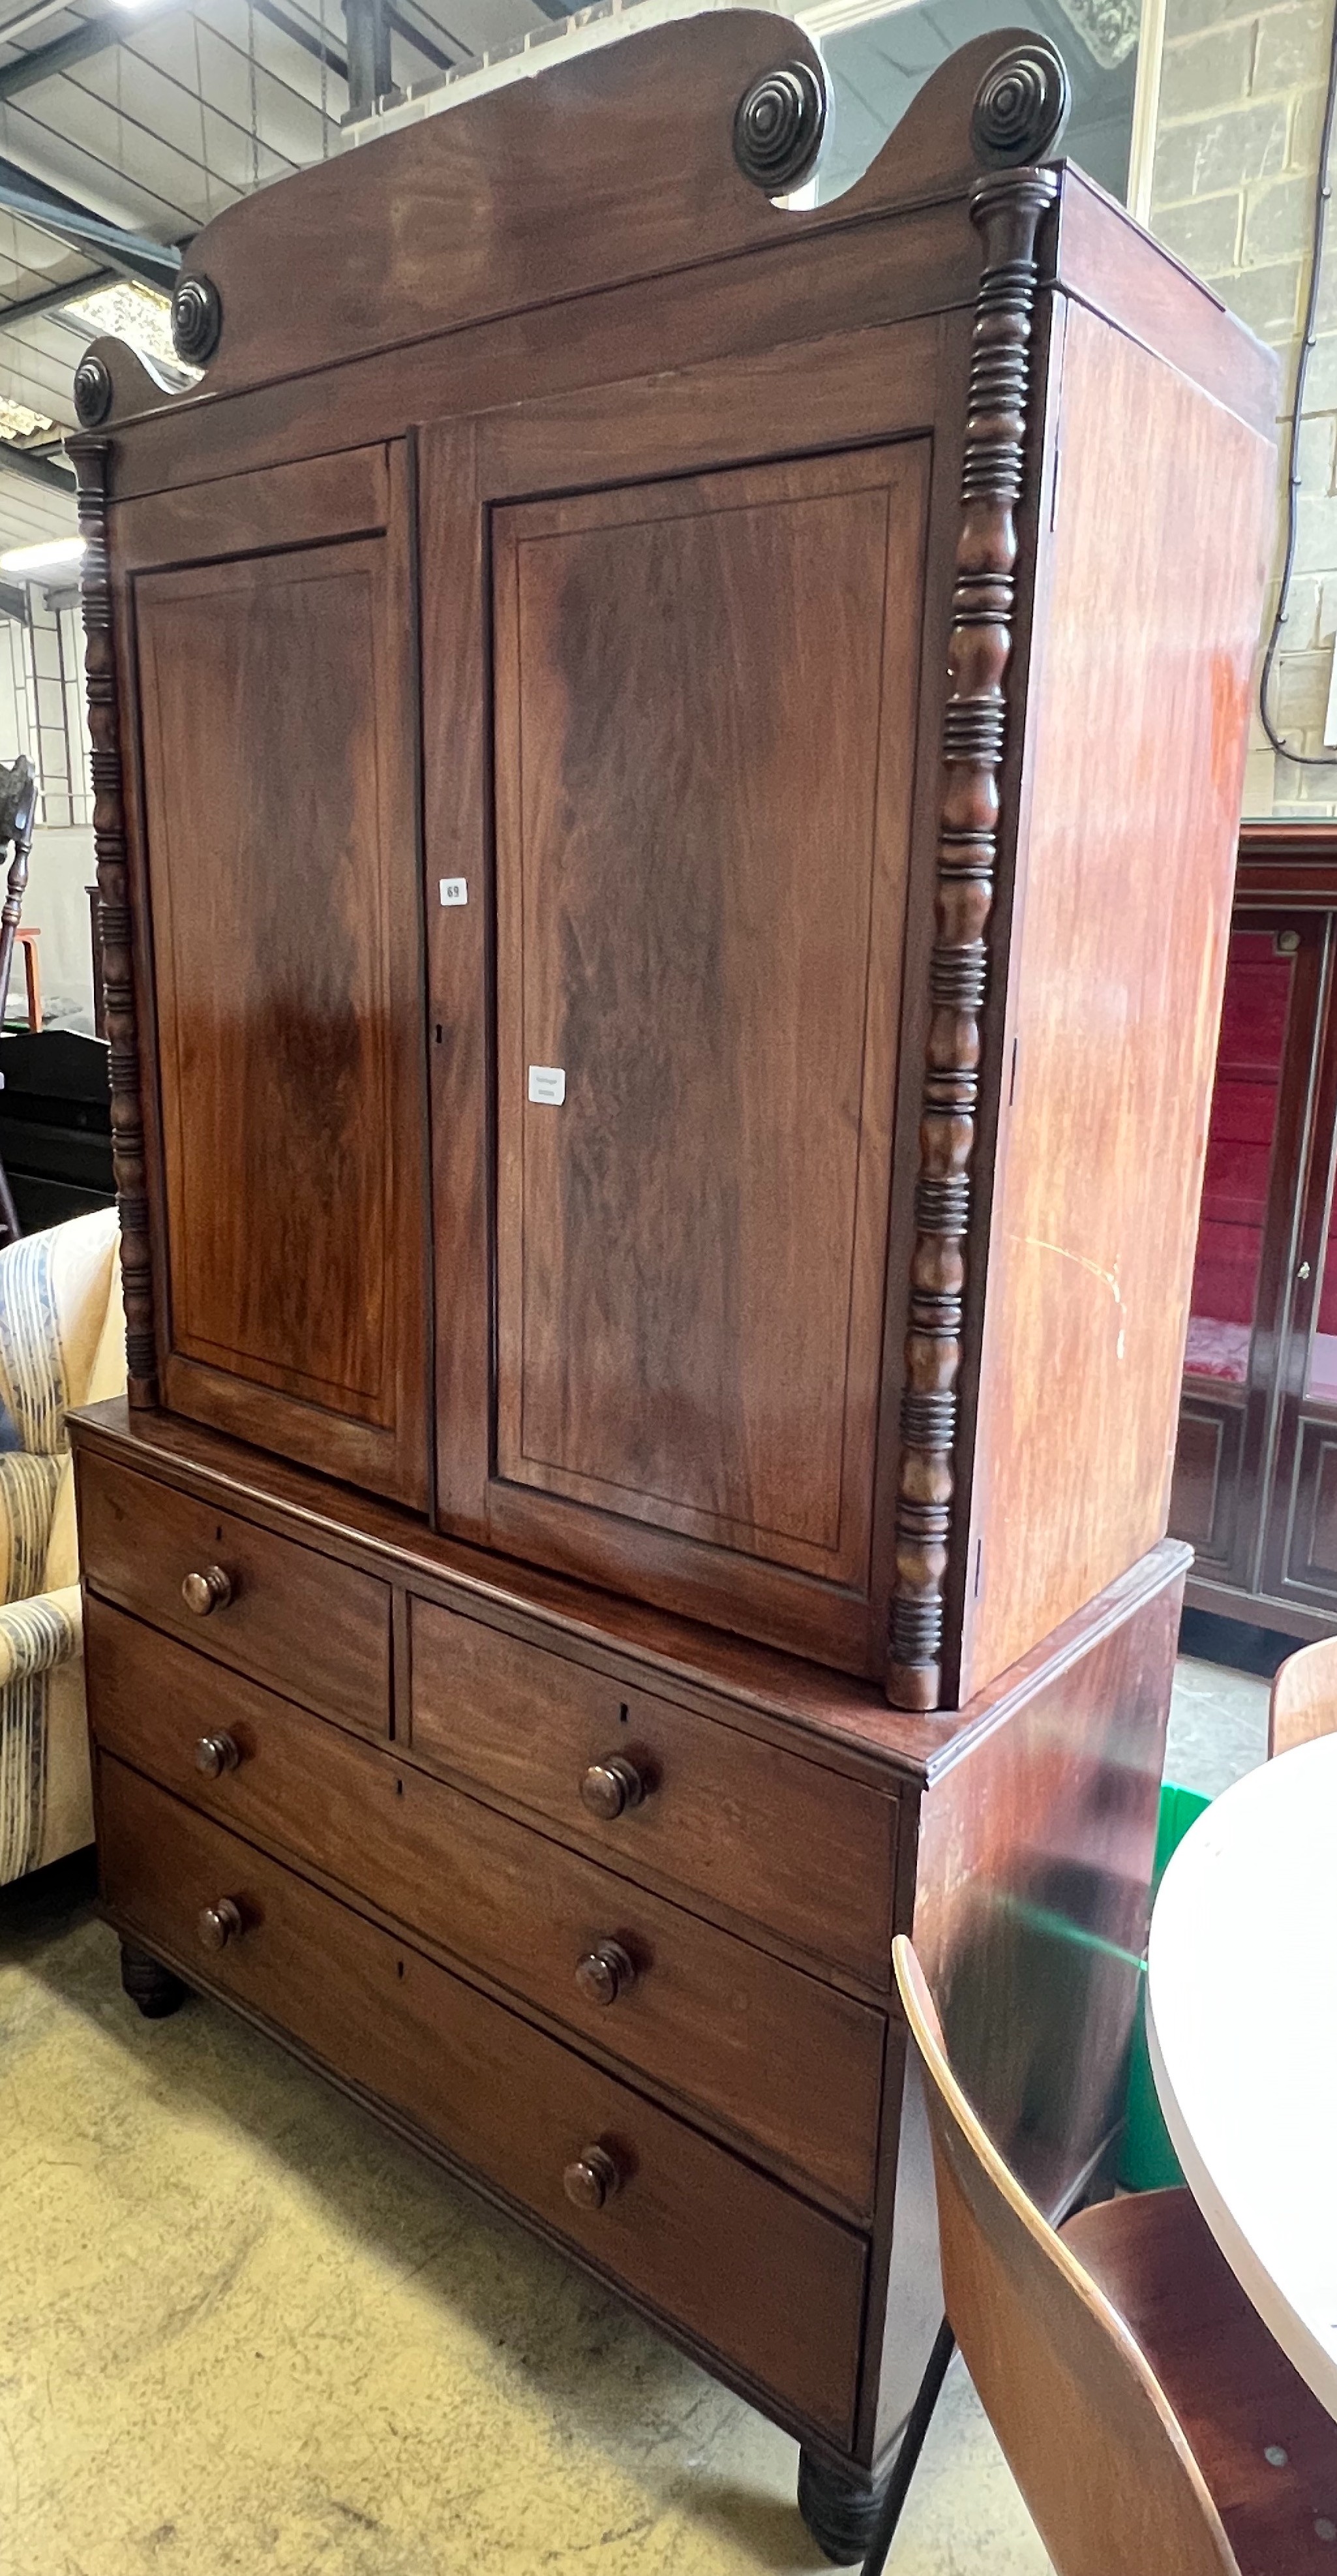
<path fill-rule="evenodd" d="M 340 1726 L 389 1734 L 389 1584 L 88 1453 L 80 1551 L 106 1600 Z M 229 1597 L 188 1610 L 185 1577 L 211 1566 Z"/>

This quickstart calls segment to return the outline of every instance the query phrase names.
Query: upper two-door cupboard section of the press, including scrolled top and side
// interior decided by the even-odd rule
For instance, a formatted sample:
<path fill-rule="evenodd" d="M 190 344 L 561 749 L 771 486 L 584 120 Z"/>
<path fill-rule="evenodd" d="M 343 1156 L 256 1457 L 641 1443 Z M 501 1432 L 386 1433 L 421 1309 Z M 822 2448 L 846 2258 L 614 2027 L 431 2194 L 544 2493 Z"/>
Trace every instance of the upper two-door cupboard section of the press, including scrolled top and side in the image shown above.
<path fill-rule="evenodd" d="M 1164 1528 L 1267 520 L 1064 98 L 801 209 L 801 31 L 649 28 L 227 209 L 72 443 L 134 1399 L 917 1710 Z"/>

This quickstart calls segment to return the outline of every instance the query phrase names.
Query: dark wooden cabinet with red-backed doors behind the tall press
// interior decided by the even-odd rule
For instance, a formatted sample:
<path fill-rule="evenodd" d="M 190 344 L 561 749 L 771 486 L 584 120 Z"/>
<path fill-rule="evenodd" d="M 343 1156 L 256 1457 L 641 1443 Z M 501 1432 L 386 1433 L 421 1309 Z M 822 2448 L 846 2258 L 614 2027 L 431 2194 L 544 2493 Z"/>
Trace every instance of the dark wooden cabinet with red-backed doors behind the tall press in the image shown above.
<path fill-rule="evenodd" d="M 1337 824 L 1249 822 L 1170 1528 L 1188 1602 L 1337 1633 Z"/>

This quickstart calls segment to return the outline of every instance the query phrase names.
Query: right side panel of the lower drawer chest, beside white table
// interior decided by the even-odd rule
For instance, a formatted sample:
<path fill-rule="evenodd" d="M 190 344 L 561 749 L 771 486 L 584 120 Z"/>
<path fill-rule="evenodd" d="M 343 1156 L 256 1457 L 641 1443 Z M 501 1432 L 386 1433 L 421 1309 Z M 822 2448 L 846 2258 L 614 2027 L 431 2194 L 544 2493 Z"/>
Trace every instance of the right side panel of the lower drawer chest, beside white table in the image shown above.
<path fill-rule="evenodd" d="M 1185 1564 L 1152 1551 L 984 1692 L 920 1806 L 915 1947 L 961 2084 L 1043 2210 L 1123 2112 Z"/>

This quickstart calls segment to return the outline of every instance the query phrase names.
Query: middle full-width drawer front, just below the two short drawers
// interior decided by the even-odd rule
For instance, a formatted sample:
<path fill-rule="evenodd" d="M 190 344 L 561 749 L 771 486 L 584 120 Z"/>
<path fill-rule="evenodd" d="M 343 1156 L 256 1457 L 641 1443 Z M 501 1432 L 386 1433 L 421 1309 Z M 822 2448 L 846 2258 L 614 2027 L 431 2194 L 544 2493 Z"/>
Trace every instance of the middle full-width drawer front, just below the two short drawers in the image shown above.
<path fill-rule="evenodd" d="M 358 1888 L 871 2215 L 881 2012 L 98 1600 L 85 1654 L 100 1747 Z M 211 1759 L 227 1739 L 234 1767 L 201 1772 L 201 1739 Z"/>

